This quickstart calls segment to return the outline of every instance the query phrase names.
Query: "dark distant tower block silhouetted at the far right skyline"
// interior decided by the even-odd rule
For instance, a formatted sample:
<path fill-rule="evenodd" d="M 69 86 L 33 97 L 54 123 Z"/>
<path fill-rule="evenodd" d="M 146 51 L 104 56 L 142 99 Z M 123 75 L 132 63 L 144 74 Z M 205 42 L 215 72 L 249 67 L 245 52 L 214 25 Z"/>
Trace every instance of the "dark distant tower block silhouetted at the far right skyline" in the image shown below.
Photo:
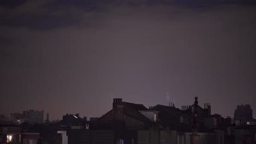
<path fill-rule="evenodd" d="M 253 111 L 251 105 L 237 105 L 234 113 L 236 124 L 246 124 L 247 121 L 253 119 Z"/>

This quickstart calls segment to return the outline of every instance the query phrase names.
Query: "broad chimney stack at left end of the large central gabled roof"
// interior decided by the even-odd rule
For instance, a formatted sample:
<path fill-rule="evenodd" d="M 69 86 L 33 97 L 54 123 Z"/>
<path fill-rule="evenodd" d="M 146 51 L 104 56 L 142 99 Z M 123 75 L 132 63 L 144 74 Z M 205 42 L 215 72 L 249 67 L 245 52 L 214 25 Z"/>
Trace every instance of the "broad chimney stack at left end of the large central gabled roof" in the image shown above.
<path fill-rule="evenodd" d="M 123 102 L 120 98 L 113 99 L 113 120 L 114 121 L 123 121 Z"/>

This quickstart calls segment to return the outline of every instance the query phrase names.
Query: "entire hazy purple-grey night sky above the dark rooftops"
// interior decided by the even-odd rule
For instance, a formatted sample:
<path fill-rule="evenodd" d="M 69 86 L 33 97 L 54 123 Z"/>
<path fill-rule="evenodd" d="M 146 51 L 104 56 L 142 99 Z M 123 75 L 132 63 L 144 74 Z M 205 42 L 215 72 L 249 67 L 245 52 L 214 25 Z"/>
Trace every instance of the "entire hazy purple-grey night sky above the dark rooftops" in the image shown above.
<path fill-rule="evenodd" d="M 199 97 L 212 113 L 250 104 L 255 116 L 256 6 L 231 1 L 1 0 L 0 114 L 100 117 L 113 98 Z"/>

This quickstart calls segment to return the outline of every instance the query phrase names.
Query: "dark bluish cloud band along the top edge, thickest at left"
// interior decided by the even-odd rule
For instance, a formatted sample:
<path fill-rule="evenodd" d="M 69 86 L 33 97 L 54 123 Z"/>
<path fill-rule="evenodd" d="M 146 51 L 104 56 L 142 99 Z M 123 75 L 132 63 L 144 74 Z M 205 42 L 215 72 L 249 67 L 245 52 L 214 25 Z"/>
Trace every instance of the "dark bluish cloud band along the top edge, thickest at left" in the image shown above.
<path fill-rule="evenodd" d="M 247 0 L 249 1 L 249 0 Z M 227 3 L 240 3 L 246 1 L 232 0 L 222 1 Z M 139 1 L 115 1 L 115 0 L 48 0 L 48 1 L 1 1 L 0 5 L 7 7 L 0 11 L 0 25 L 8 27 L 27 27 L 38 30 L 49 30 L 53 28 L 79 26 L 79 25 L 95 25 L 95 18 L 101 14 L 107 14 L 109 10 L 117 7 L 124 8 L 143 8 L 143 7 L 182 7 L 194 9 L 206 9 L 209 7 L 217 7 L 218 1 L 201 1 L 201 0 L 139 0 Z M 11 9 L 9 9 L 11 8 Z M 1 10 L 1 7 L 0 7 Z M 76 10 L 76 12 L 74 12 Z M 84 20 L 84 16 L 86 20 Z M 91 16 L 93 15 L 93 16 Z"/>

